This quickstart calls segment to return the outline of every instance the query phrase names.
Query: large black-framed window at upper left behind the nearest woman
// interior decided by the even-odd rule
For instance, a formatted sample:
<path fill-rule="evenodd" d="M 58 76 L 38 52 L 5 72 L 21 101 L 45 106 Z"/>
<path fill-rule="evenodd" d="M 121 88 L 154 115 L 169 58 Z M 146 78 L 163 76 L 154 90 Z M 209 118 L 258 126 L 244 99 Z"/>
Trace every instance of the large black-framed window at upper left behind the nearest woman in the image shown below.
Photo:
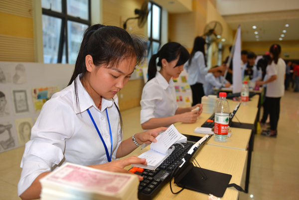
<path fill-rule="evenodd" d="M 44 63 L 76 62 L 91 25 L 90 0 L 41 0 Z"/>

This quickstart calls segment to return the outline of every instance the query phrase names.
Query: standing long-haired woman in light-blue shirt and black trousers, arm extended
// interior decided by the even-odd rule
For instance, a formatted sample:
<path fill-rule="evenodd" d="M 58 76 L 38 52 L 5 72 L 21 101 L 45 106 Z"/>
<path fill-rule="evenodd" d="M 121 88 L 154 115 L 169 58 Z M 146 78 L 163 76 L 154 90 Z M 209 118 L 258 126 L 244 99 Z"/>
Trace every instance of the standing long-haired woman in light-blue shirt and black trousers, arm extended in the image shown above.
<path fill-rule="evenodd" d="M 205 39 L 202 37 L 196 37 L 194 39 L 194 45 L 188 62 L 184 64 L 184 68 L 187 70 L 189 75 L 188 83 L 192 90 L 192 106 L 197 103 L 201 103 L 201 97 L 204 96 L 203 85 L 205 84 L 205 75 L 209 72 L 218 70 L 226 70 L 225 66 L 215 67 L 208 69 L 206 67 L 205 60 Z"/>

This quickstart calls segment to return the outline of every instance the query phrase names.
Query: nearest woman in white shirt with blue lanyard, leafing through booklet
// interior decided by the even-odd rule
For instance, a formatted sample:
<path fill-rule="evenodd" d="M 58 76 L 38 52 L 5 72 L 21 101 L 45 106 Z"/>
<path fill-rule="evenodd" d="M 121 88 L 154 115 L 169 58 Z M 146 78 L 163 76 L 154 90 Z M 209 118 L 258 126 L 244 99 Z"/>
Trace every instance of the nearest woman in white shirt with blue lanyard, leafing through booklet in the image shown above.
<path fill-rule="evenodd" d="M 158 133 L 166 130 L 122 141 L 116 94 L 144 52 L 143 42 L 122 28 L 96 24 L 85 30 L 69 86 L 44 104 L 26 143 L 18 183 L 22 200 L 39 199 L 39 179 L 65 162 L 122 173 L 131 173 L 125 166 L 147 164 L 137 157 L 116 160 L 143 143 L 156 142 Z"/>

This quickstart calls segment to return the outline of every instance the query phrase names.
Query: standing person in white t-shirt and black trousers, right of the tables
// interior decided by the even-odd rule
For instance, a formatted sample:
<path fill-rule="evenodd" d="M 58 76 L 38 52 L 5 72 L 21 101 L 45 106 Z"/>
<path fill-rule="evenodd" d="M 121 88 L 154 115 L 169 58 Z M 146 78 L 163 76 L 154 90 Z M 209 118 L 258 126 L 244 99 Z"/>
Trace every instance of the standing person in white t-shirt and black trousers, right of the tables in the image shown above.
<path fill-rule="evenodd" d="M 270 129 L 262 132 L 263 136 L 276 137 L 277 136 L 277 124 L 280 114 L 280 100 L 285 94 L 285 75 L 286 75 L 286 63 L 280 58 L 281 46 L 279 44 L 273 44 L 270 47 L 271 60 L 267 66 L 266 81 L 257 81 L 256 84 L 261 86 L 267 84 L 266 100 L 264 103 L 264 109 L 267 109 L 270 114 Z M 265 124 L 266 121 L 261 121 Z"/>

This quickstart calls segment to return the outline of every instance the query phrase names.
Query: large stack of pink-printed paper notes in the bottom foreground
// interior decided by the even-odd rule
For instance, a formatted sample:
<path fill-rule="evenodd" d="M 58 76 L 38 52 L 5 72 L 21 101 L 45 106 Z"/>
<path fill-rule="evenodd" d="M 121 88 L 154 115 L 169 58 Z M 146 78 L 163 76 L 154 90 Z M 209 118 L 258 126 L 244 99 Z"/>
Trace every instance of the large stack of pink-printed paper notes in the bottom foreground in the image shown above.
<path fill-rule="evenodd" d="M 65 163 L 40 179 L 41 200 L 138 200 L 136 175 Z"/>

